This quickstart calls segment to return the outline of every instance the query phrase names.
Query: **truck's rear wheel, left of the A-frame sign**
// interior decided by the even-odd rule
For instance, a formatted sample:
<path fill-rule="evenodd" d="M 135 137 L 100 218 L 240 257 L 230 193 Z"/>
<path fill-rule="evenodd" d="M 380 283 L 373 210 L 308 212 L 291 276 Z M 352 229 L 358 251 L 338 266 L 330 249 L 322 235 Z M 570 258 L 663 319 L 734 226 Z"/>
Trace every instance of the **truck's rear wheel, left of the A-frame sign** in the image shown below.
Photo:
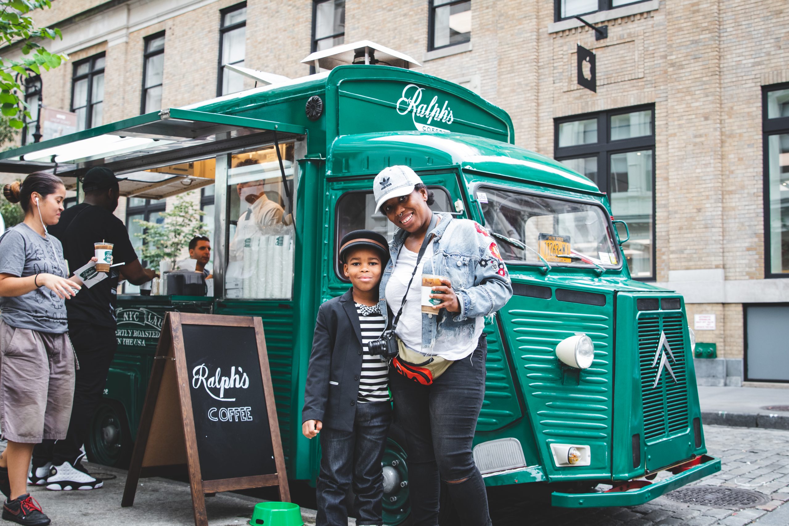
<path fill-rule="evenodd" d="M 93 413 L 85 450 L 88 460 L 114 468 L 128 468 L 132 434 L 122 405 L 104 399 Z"/>

